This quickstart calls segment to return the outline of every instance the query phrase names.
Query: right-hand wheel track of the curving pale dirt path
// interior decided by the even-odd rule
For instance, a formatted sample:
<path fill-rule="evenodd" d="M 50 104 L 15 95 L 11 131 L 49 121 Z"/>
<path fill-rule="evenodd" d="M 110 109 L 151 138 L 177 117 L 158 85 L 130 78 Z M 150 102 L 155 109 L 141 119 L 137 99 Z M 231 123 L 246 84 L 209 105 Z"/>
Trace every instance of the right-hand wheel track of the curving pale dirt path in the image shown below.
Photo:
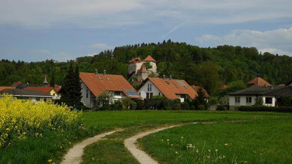
<path fill-rule="evenodd" d="M 197 123 L 197 122 L 194 122 L 194 123 Z M 184 125 L 184 124 L 172 125 L 172 126 L 168 126 L 168 127 L 163 127 L 163 128 L 139 133 L 139 134 L 125 140 L 124 144 L 127 147 L 127 149 L 133 154 L 133 156 L 139 161 L 140 164 L 159 164 L 157 161 L 152 159 L 146 152 L 138 149 L 137 146 L 135 145 L 135 142 L 138 139 L 140 139 L 144 136 L 147 136 L 151 133 L 156 133 L 156 132 L 159 132 L 161 130 L 165 130 L 165 129 L 173 128 L 173 127 L 177 127 L 177 126 L 182 126 L 182 125 Z"/>

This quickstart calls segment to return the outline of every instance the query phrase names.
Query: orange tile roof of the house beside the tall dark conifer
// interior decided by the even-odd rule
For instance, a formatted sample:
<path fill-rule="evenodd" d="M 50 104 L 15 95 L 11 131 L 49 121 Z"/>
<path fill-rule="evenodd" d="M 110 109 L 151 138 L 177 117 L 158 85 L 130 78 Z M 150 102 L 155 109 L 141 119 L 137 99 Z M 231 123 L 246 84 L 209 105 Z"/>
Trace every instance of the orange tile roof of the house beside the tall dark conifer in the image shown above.
<path fill-rule="evenodd" d="M 104 76 L 99 73 L 97 76 L 94 73 L 86 72 L 80 72 L 79 75 L 83 83 L 95 96 L 98 96 L 102 91 L 121 91 L 127 97 L 141 98 L 141 96 L 130 96 L 125 92 L 125 90 L 133 90 L 134 92 L 136 92 L 136 90 L 122 75 L 106 74 L 106 76 Z M 101 80 L 98 77 L 100 77 Z M 109 78 L 109 80 L 107 80 L 106 77 Z"/>

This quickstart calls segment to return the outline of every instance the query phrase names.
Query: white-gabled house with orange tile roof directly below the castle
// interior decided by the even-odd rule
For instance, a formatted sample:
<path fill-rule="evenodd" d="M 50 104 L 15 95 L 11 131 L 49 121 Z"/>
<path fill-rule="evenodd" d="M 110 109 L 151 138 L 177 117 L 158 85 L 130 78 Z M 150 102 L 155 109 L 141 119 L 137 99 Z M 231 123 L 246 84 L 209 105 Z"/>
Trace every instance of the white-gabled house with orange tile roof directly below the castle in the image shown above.
<path fill-rule="evenodd" d="M 151 98 L 154 95 L 162 95 L 168 99 L 180 99 L 184 102 L 186 98 L 194 99 L 197 96 L 195 90 L 185 80 L 169 78 L 148 77 L 143 81 L 138 90 L 142 98 Z"/>

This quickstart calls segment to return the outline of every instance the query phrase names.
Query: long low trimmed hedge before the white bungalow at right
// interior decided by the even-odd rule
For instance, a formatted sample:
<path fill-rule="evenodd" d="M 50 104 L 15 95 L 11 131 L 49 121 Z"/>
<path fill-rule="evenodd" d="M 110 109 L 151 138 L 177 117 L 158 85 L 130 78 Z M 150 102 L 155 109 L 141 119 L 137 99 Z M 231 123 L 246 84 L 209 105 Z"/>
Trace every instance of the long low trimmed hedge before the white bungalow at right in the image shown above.
<path fill-rule="evenodd" d="M 292 112 L 292 107 L 269 107 L 269 106 L 240 106 L 239 111 L 260 111 L 260 112 Z"/>

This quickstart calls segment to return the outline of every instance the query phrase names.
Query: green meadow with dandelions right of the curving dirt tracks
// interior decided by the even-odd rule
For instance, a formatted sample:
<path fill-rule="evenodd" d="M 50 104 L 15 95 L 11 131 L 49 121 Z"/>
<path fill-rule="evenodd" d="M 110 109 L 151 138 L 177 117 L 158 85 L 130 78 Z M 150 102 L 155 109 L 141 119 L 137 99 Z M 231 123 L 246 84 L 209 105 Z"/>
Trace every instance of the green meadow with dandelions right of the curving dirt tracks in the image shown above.
<path fill-rule="evenodd" d="M 292 164 L 291 125 L 292 117 L 189 124 L 138 142 L 161 164 Z M 215 160 L 219 156 L 222 160 Z"/>

